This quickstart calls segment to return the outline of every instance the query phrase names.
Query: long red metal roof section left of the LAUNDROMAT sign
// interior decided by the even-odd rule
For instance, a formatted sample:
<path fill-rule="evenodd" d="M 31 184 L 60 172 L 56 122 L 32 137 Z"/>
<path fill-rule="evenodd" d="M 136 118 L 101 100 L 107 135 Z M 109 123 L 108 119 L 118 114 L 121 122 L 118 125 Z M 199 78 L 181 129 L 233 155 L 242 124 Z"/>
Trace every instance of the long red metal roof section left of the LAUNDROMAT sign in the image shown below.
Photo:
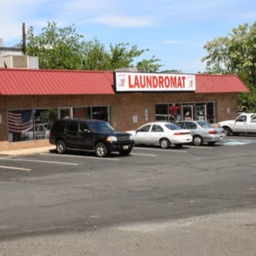
<path fill-rule="evenodd" d="M 0 69 L 2 95 L 114 94 L 112 71 Z"/>

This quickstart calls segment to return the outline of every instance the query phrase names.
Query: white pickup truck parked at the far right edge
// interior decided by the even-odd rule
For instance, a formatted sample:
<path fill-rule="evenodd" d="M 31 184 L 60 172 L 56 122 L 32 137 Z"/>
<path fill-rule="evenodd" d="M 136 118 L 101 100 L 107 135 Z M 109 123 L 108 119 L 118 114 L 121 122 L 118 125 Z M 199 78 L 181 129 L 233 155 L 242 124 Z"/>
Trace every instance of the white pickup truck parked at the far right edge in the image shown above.
<path fill-rule="evenodd" d="M 219 122 L 219 127 L 224 129 L 226 135 L 256 133 L 256 113 L 241 114 L 235 120 Z"/>

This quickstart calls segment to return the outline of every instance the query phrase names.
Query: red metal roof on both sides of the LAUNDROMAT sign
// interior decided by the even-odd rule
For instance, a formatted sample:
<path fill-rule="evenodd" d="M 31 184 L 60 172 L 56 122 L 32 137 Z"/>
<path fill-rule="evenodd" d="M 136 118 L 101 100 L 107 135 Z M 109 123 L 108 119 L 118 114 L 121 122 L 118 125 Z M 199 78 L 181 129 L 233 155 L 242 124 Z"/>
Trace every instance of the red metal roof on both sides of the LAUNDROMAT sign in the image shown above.
<path fill-rule="evenodd" d="M 196 93 L 250 92 L 235 75 L 196 74 Z M 115 94 L 112 71 L 0 69 L 0 95 Z"/>

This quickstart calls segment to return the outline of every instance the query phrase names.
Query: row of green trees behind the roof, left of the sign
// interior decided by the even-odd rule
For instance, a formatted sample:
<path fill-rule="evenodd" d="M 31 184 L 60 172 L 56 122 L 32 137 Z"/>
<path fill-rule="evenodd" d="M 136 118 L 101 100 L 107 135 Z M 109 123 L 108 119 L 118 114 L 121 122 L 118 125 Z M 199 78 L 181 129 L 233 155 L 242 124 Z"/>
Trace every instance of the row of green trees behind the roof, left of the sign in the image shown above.
<path fill-rule="evenodd" d="M 35 35 L 33 27 L 26 34 L 26 54 L 38 56 L 41 69 L 85 69 L 114 71 L 123 67 L 144 67 L 151 72 L 158 71 L 162 65 L 153 56 L 149 60 L 141 58 L 148 49 L 119 43 L 109 50 L 94 38 L 85 41 L 83 35 L 76 33 L 74 24 L 67 28 L 58 28 L 56 22 L 47 22 L 42 33 Z"/>

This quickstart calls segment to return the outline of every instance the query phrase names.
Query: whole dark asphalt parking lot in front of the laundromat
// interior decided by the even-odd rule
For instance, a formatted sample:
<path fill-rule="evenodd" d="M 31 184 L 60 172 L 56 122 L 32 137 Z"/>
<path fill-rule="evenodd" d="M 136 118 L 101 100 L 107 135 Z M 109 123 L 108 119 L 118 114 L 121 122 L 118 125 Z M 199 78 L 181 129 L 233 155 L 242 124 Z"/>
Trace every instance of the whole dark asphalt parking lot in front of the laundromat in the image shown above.
<path fill-rule="evenodd" d="M 255 255 L 256 137 L 0 156 L 1 255 Z"/>

